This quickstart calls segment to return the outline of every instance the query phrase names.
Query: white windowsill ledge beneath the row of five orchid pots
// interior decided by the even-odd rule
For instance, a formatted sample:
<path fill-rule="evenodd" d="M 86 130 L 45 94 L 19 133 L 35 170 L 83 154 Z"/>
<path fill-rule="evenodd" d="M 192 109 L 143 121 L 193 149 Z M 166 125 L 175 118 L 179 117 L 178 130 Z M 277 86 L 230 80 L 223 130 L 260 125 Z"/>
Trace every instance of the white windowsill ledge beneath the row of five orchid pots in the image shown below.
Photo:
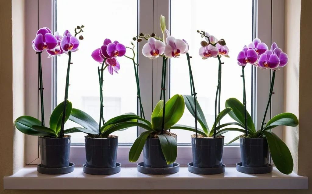
<path fill-rule="evenodd" d="M 308 189 L 308 177 L 295 173 L 285 175 L 275 167 L 268 174 L 244 174 L 234 166 L 225 173 L 200 175 L 188 172 L 186 166 L 170 175 L 149 175 L 136 166 L 124 166 L 120 173 L 105 176 L 85 174 L 81 167 L 63 175 L 45 175 L 36 167 L 25 167 L 12 176 L 4 177 L 4 189 L 79 189 L 79 190 L 138 190 L 138 189 Z"/>

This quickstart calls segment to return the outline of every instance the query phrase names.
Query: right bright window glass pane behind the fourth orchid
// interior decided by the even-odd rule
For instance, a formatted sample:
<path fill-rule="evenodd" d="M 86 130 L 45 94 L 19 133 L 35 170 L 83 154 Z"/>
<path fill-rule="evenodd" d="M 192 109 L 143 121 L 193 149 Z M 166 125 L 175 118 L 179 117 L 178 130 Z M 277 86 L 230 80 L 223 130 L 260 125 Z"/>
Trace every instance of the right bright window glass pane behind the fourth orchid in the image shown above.
<path fill-rule="evenodd" d="M 238 5 L 239 4 L 239 5 Z M 199 31 L 206 31 L 217 39 L 224 39 L 229 47 L 230 58 L 222 57 L 221 110 L 225 101 L 235 97 L 242 102 L 243 84 L 241 67 L 236 57 L 243 45 L 252 40 L 252 1 L 251 0 L 171 0 L 171 35 L 185 39 L 190 46 L 191 59 L 197 100 L 205 114 L 209 128 L 214 122 L 214 103 L 218 79 L 218 59 L 203 60 L 198 54 L 201 36 Z M 251 113 L 251 65 L 245 68 L 247 111 Z M 190 81 L 186 55 L 181 59 L 170 60 L 170 95 L 190 94 Z M 185 108 L 178 124 L 195 126 L 194 117 Z M 230 116 L 221 123 L 232 122 Z M 198 123 L 200 128 L 200 125 Z M 193 132 L 172 130 L 178 134 L 178 143 L 190 143 Z M 225 143 L 238 136 L 239 132 L 225 134 Z"/>

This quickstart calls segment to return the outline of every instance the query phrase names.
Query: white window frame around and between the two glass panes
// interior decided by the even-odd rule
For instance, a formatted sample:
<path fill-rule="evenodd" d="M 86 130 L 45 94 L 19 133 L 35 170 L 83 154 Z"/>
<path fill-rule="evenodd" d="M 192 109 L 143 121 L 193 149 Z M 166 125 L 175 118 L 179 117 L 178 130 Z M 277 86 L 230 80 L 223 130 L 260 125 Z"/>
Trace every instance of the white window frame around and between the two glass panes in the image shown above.
<path fill-rule="evenodd" d="M 39 2 L 39 5 L 38 5 Z M 39 26 L 49 27 L 53 29 L 54 18 L 54 0 L 27 0 L 25 3 L 25 41 L 29 43 L 33 40 L 34 34 L 37 32 Z M 284 49 L 284 0 L 254 0 L 254 17 L 256 17 L 256 27 L 254 33 L 256 37 L 260 38 L 262 42 L 265 42 L 269 47 L 271 43 L 275 41 L 280 48 Z M 159 24 L 160 14 L 166 17 L 166 26 L 170 31 L 170 0 L 138 0 L 138 31 L 156 34 L 162 34 Z M 38 17 L 39 16 L 39 17 Z M 38 23 L 34 18 L 38 17 Z M 86 25 L 86 24 L 85 24 Z M 273 40 L 273 41 L 272 41 Z M 27 44 L 29 45 L 29 44 Z M 138 45 L 139 51 L 142 50 L 143 44 Z M 45 56 L 46 53 L 43 54 Z M 162 74 L 162 59 L 150 60 L 143 56 L 139 52 L 139 79 L 142 104 L 145 110 L 146 118 L 151 117 L 153 107 L 157 104 L 161 87 L 161 74 Z M 34 54 L 32 48 L 26 49 L 26 114 L 37 117 L 38 114 L 38 67 L 37 67 L 37 55 Z M 44 99 L 45 99 L 45 120 L 49 121 L 53 104 L 53 83 L 54 83 L 54 68 L 53 59 L 42 57 L 43 70 L 43 83 L 44 83 Z M 50 66 L 48 64 L 51 64 Z M 169 66 L 167 67 L 166 83 L 169 88 Z M 265 111 L 266 103 L 269 94 L 270 76 L 269 70 L 258 70 L 254 68 L 255 88 L 256 95 L 254 97 L 255 103 L 253 106 L 254 118 L 256 118 L 256 126 L 259 129 L 262 121 L 262 116 Z M 267 119 L 271 115 L 279 114 L 283 111 L 283 90 L 284 90 L 284 71 L 278 71 L 275 78 L 275 94 L 272 97 L 272 106 Z M 167 90 L 168 91 L 168 90 Z M 168 99 L 168 96 L 167 96 Z M 48 104 L 47 102 L 51 102 Z M 40 103 L 40 102 L 39 102 Z M 40 106 L 40 104 L 39 104 Z M 40 110 L 39 110 L 40 111 Z M 50 114 L 48 114 L 50 113 Z M 259 116 L 257 116 L 259 115 Z M 267 121 L 267 120 L 266 120 Z M 144 129 L 139 128 L 139 134 Z M 280 137 L 283 137 L 283 130 L 281 127 L 276 127 L 274 132 Z M 128 160 L 130 146 L 119 146 L 117 152 L 117 161 L 124 165 L 136 165 L 136 163 L 130 163 Z M 76 165 L 82 165 L 85 163 L 85 147 L 84 146 L 71 146 L 70 160 Z M 139 161 L 143 161 L 143 153 L 141 154 Z M 178 156 L 176 162 L 181 165 L 185 165 L 192 161 L 192 147 L 191 146 L 178 146 Z M 241 161 L 241 154 L 239 145 L 224 146 L 223 151 L 223 163 L 226 165 L 233 165 Z M 40 153 L 38 138 L 36 136 L 26 135 L 26 164 L 39 164 Z"/>

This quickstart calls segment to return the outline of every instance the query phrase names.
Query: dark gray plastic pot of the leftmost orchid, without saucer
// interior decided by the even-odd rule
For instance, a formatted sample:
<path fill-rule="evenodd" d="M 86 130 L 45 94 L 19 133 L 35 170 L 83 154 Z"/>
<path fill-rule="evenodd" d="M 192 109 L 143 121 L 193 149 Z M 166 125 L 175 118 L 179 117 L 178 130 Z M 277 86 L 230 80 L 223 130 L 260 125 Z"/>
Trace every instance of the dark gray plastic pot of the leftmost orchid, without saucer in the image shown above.
<path fill-rule="evenodd" d="M 41 167 L 64 168 L 69 166 L 70 135 L 65 135 L 64 138 L 39 137 L 39 148 Z"/>

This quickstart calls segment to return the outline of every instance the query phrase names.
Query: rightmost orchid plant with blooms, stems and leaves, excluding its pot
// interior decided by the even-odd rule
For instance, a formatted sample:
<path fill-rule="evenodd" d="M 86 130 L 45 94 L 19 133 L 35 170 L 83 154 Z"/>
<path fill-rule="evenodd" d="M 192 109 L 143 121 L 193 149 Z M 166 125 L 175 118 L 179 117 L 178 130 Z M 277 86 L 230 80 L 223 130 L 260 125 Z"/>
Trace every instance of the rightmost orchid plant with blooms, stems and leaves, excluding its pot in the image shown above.
<path fill-rule="evenodd" d="M 237 140 L 239 137 L 246 138 L 266 138 L 269 149 L 271 152 L 272 160 L 276 168 L 284 174 L 290 174 L 293 170 L 293 159 L 287 145 L 275 135 L 271 129 L 280 126 L 297 126 L 299 124 L 297 117 L 289 112 L 281 113 L 274 116 L 271 120 L 265 123 L 266 113 L 271 103 L 271 97 L 273 94 L 275 73 L 279 68 L 284 67 L 288 62 L 288 56 L 276 43 L 271 45 L 271 49 L 261 43 L 260 39 L 255 39 L 249 45 L 245 45 L 243 50 L 239 52 L 237 56 L 238 65 L 242 66 L 242 78 L 243 78 L 243 104 L 236 98 L 230 98 L 226 101 L 226 107 L 231 107 L 232 112 L 229 115 L 237 121 L 236 125 L 242 126 L 245 130 L 244 135 L 239 135 L 228 144 Z M 252 64 L 259 69 L 271 69 L 273 70 L 269 99 L 264 112 L 263 120 L 261 123 L 261 129 L 256 130 L 255 125 L 248 111 L 246 110 L 246 90 L 245 90 L 245 79 L 244 79 L 244 68 L 246 64 Z"/>

